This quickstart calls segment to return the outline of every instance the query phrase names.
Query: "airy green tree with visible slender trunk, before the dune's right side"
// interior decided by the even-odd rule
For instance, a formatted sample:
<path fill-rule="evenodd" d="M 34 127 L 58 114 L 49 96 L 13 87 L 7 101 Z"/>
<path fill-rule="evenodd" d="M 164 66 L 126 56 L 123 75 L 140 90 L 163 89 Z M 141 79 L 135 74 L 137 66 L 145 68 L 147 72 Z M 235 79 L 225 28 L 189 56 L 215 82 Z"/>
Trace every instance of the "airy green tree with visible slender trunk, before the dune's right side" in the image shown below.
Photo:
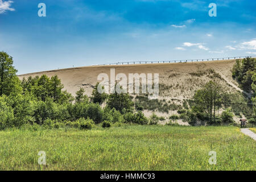
<path fill-rule="evenodd" d="M 194 96 L 196 109 L 209 115 L 210 123 L 216 120 L 216 110 L 220 109 L 222 88 L 217 82 L 209 81 Z"/>

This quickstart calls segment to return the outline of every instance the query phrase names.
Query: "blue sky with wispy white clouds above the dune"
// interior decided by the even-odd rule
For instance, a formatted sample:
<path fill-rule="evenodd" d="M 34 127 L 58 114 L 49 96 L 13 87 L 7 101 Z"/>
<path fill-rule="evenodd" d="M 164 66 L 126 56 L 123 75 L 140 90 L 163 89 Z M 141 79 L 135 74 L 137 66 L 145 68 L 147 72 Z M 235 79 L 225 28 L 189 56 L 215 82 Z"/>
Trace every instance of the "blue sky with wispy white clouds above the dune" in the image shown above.
<path fill-rule="evenodd" d="M 38 16 L 41 2 L 46 17 Z M 19 74 L 256 55 L 255 7 L 249 0 L 0 0 L 0 50 L 14 57 Z"/>

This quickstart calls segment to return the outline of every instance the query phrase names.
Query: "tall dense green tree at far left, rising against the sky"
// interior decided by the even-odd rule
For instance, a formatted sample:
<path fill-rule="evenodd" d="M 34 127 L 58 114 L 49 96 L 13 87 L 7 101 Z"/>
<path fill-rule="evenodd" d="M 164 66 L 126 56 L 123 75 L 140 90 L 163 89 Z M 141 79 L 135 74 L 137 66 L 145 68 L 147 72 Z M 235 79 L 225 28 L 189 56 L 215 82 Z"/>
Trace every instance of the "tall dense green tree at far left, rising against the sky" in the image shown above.
<path fill-rule="evenodd" d="M 6 52 L 0 52 L 0 96 L 22 92 L 20 80 L 16 73 L 17 70 L 13 66 L 13 57 Z"/>

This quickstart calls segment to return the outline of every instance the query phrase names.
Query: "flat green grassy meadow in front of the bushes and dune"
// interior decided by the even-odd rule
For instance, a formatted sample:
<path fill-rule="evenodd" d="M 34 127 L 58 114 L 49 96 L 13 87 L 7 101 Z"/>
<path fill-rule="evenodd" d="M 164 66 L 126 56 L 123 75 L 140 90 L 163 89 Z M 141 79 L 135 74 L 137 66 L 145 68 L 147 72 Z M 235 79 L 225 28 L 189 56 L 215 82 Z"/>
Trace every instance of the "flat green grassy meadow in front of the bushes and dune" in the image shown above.
<path fill-rule="evenodd" d="M 38 152 L 47 166 L 39 166 Z M 210 165 L 209 151 L 217 152 Z M 133 126 L 0 131 L 0 170 L 255 170 L 237 127 Z"/>

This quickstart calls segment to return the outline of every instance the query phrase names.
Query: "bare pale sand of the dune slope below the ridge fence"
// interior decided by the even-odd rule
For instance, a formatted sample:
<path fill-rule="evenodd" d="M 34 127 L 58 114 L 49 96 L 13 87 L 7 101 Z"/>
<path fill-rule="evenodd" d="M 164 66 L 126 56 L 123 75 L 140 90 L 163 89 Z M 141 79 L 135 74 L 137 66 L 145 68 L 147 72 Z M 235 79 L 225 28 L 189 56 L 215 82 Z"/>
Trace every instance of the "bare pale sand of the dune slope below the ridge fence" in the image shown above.
<path fill-rule="evenodd" d="M 98 82 L 97 76 L 100 73 L 107 73 L 110 78 L 110 68 L 115 68 L 115 75 L 125 73 L 128 78 L 129 73 L 159 73 L 159 100 L 171 101 L 182 105 L 184 99 L 192 98 L 195 91 L 200 89 L 209 80 L 216 79 L 225 88 L 226 92 L 236 92 L 242 90 L 232 78 L 232 68 L 236 60 L 204 61 L 194 63 L 162 63 L 162 64 L 135 64 L 135 65 L 105 65 L 90 66 L 80 68 L 58 69 L 38 73 L 28 73 L 20 75 L 19 78 L 28 76 L 40 76 L 46 74 L 51 77 L 57 75 L 64 85 L 64 89 L 75 96 L 80 87 L 85 88 L 86 94 L 91 95 L 92 90 Z M 193 76 L 191 73 L 199 73 L 213 69 L 220 77 L 209 77 L 210 75 Z M 143 113 L 149 117 L 152 111 L 144 110 Z M 159 116 L 164 116 L 168 122 L 168 116 L 177 114 L 177 111 L 170 111 L 168 114 L 155 112 Z M 239 118 L 236 119 L 239 121 Z M 188 125 L 182 121 L 177 121 L 180 125 Z"/>

